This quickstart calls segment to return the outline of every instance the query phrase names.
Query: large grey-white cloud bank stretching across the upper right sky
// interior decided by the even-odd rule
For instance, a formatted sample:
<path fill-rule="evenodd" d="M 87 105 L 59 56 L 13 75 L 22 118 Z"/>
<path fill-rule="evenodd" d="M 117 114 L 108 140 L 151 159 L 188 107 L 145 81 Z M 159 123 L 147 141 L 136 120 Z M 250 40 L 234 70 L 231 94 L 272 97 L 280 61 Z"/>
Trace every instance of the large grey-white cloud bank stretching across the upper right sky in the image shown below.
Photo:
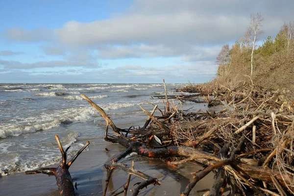
<path fill-rule="evenodd" d="M 291 20 L 294 13 L 289 7 L 294 7 L 294 1 L 282 1 L 136 0 L 123 15 L 92 23 L 71 21 L 55 33 L 62 43 L 83 46 L 226 43 L 243 36 L 250 13 L 259 11 L 269 20 L 274 15 L 275 30 Z M 273 30 L 272 23 L 264 27 Z"/>

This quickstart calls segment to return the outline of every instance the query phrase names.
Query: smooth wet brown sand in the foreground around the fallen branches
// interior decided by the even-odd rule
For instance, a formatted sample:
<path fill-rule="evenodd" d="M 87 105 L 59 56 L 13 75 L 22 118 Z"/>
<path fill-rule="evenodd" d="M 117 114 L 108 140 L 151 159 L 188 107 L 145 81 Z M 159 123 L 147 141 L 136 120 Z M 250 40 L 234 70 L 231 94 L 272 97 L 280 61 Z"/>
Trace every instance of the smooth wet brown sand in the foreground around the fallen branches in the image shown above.
<path fill-rule="evenodd" d="M 86 141 L 80 140 L 78 142 L 85 143 Z M 124 150 L 124 147 L 105 142 L 101 137 L 91 139 L 90 143 L 90 149 L 82 152 L 70 168 L 73 183 L 77 183 L 77 190 L 75 190 L 77 196 L 102 195 L 106 179 L 106 169 L 103 164 L 111 159 L 113 155 Z M 105 151 L 105 147 L 109 151 Z M 176 169 L 167 166 L 158 159 L 147 159 L 138 155 L 125 158 L 123 163 L 130 166 L 132 160 L 135 161 L 135 169 L 158 178 L 162 182 L 160 186 L 149 185 L 147 189 L 140 192 L 139 195 L 141 196 L 178 196 L 192 179 L 191 172 L 202 168 L 188 163 Z M 115 170 L 109 183 L 107 195 L 123 188 L 126 179 L 126 173 Z M 129 190 L 133 189 L 133 185 L 140 181 L 141 179 L 132 176 Z M 201 194 L 196 193 L 196 190 L 210 188 L 212 182 L 213 174 L 210 173 L 196 184 L 191 195 L 200 196 Z M 17 173 L 0 176 L 0 195 L 59 196 L 59 192 L 54 176 L 42 173 L 32 175 Z"/>

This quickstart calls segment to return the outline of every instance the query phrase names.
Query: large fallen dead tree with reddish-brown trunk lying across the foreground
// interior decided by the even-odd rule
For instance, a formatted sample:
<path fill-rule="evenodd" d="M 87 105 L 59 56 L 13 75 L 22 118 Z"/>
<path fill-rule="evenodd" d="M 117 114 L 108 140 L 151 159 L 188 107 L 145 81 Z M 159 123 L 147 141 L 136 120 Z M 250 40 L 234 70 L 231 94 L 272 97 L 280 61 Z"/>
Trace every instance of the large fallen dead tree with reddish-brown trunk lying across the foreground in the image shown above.
<path fill-rule="evenodd" d="M 104 189 L 104 196 L 106 195 L 106 190 L 107 190 L 107 181 L 109 181 L 111 177 L 111 173 L 114 169 L 118 168 L 121 169 L 129 175 L 136 175 L 132 172 L 130 172 L 131 169 L 126 168 L 123 165 L 118 164 L 117 162 L 121 160 L 123 157 L 125 157 L 127 154 L 131 152 L 136 152 L 138 155 L 145 156 L 148 158 L 170 158 L 170 157 L 184 157 L 184 160 L 180 161 L 174 161 L 170 162 L 170 165 L 177 165 L 177 164 L 182 164 L 188 161 L 195 160 L 196 162 L 205 165 L 206 168 L 197 174 L 195 174 L 193 180 L 187 185 L 186 190 L 181 194 L 182 196 L 188 196 L 190 191 L 193 189 L 193 187 L 196 185 L 196 183 L 202 179 L 204 176 L 206 176 L 209 172 L 217 170 L 220 168 L 218 171 L 219 177 L 217 177 L 217 181 L 214 183 L 214 185 L 211 188 L 211 195 L 217 195 L 220 191 L 220 188 L 224 186 L 224 176 L 223 176 L 223 170 L 226 171 L 233 171 L 235 177 L 237 176 L 238 179 L 243 180 L 243 184 L 249 186 L 256 194 L 262 196 L 263 194 L 260 192 L 259 189 L 257 189 L 253 184 L 249 182 L 248 179 L 254 180 L 260 180 L 263 182 L 272 182 L 272 179 L 274 176 L 274 179 L 278 185 L 280 185 L 283 188 L 287 187 L 287 184 L 291 184 L 291 180 L 289 176 L 286 173 L 281 173 L 277 170 L 273 170 L 267 167 L 259 167 L 259 166 L 254 166 L 254 165 L 249 165 L 242 163 L 240 161 L 237 161 L 235 159 L 235 154 L 237 151 L 241 149 L 241 147 L 244 145 L 245 141 L 245 133 L 244 136 L 239 137 L 237 134 L 242 133 L 244 129 L 239 130 L 238 133 L 235 134 L 235 137 L 239 137 L 239 145 L 237 147 L 231 146 L 231 151 L 229 152 L 230 156 L 227 157 L 227 145 L 223 146 L 223 151 L 220 151 L 220 156 L 217 157 L 212 153 L 205 152 L 200 149 L 196 149 L 193 147 L 187 147 L 187 146 L 172 146 L 172 143 L 166 146 L 160 146 L 160 147 L 152 147 L 149 145 L 148 146 L 148 138 L 152 135 L 154 135 L 154 132 L 152 131 L 144 131 L 147 133 L 145 136 L 145 139 L 142 139 L 142 134 L 140 136 L 140 131 L 143 131 L 142 129 L 137 129 L 137 130 L 132 130 L 128 131 L 126 129 L 121 129 L 118 128 L 112 120 L 106 115 L 104 110 L 100 108 L 97 104 L 95 104 L 92 100 L 87 98 L 85 95 L 81 95 L 81 97 L 85 98 L 92 106 L 94 106 L 96 109 L 98 109 L 98 112 L 102 115 L 104 120 L 106 121 L 106 131 L 105 131 L 105 140 L 110 141 L 110 142 L 115 142 L 119 143 L 122 146 L 126 147 L 126 149 L 117 154 L 116 157 L 111 160 L 110 162 L 106 163 L 104 166 L 108 170 L 108 175 L 107 175 L 107 180 L 106 180 L 106 187 Z M 142 108 L 143 109 L 143 108 Z M 157 124 L 159 127 L 159 130 L 157 129 L 156 134 L 159 133 L 164 133 L 166 136 L 171 133 L 171 128 L 167 126 L 166 124 L 158 121 L 154 116 L 149 114 L 146 110 L 143 109 L 143 111 L 149 116 L 149 119 L 152 119 L 153 123 Z M 257 119 L 257 118 L 256 118 Z M 107 131 L 108 131 L 108 125 L 110 125 L 115 132 L 115 137 L 112 136 L 111 138 L 108 137 Z M 246 125 L 247 126 L 247 125 Z M 146 127 L 146 126 L 145 126 Z M 215 129 L 217 129 L 216 127 Z M 199 144 L 200 142 L 203 141 L 203 138 L 208 139 L 211 134 L 215 131 L 213 129 L 212 131 L 208 131 L 207 134 L 203 135 L 203 137 L 200 137 L 198 140 L 195 141 L 195 144 Z M 126 132 L 126 134 L 123 134 L 123 132 Z M 127 133 L 132 133 L 130 136 L 126 136 Z M 151 138 L 151 137 L 150 137 Z M 150 149 L 153 148 L 153 149 Z M 141 172 L 140 172 L 141 173 Z M 137 175 L 138 176 L 138 175 Z M 147 175 L 144 174 L 145 177 L 140 177 L 144 179 L 137 189 L 140 190 L 141 187 L 147 186 L 149 184 L 160 184 L 160 182 L 157 181 L 157 179 L 154 178 L 148 178 L 146 177 Z M 128 182 L 126 183 L 128 185 Z M 144 186 L 143 186 L 144 185 Z M 136 189 L 136 190 L 137 190 Z M 138 192 L 134 192 L 136 194 Z M 136 195 L 135 194 L 135 195 Z M 134 195 L 134 194 L 133 194 Z"/>

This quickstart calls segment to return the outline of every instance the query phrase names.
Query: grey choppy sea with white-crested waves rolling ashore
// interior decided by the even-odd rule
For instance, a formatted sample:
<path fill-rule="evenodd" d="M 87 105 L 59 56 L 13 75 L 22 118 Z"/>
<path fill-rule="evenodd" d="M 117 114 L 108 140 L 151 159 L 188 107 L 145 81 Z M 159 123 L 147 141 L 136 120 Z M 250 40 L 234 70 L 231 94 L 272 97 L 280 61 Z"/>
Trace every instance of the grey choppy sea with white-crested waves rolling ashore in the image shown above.
<path fill-rule="evenodd" d="M 169 95 L 180 95 L 166 84 Z M 121 128 L 144 125 L 150 104 L 163 110 L 163 84 L 0 84 L 0 175 L 60 162 L 54 135 L 72 156 L 87 140 L 103 140 L 105 121 L 86 100 L 97 103 Z M 147 103 L 150 102 L 150 103 Z M 178 100 L 171 100 L 179 106 Z M 193 104 L 184 104 L 191 109 Z M 86 149 L 89 150 L 89 149 Z"/>

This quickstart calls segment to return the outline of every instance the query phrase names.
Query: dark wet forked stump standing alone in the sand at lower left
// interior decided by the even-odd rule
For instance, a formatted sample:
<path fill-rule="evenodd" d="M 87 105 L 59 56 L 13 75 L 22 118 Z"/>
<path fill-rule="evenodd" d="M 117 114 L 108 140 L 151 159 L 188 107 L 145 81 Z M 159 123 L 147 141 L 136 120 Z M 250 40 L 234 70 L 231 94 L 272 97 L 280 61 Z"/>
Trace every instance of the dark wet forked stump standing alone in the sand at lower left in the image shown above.
<path fill-rule="evenodd" d="M 72 158 L 72 160 L 66 163 L 66 155 L 67 151 L 71 146 L 69 146 L 66 150 L 61 146 L 60 140 L 57 135 L 55 135 L 55 139 L 59 150 L 62 155 L 62 161 L 57 168 L 40 168 L 33 171 L 27 171 L 25 174 L 35 174 L 35 173 L 44 173 L 47 175 L 54 175 L 56 178 L 57 186 L 59 189 L 60 196 L 74 196 L 74 188 L 73 188 L 73 179 L 69 172 L 69 168 L 78 157 L 78 155 L 90 144 L 88 141 L 84 147 L 82 147 Z"/>

